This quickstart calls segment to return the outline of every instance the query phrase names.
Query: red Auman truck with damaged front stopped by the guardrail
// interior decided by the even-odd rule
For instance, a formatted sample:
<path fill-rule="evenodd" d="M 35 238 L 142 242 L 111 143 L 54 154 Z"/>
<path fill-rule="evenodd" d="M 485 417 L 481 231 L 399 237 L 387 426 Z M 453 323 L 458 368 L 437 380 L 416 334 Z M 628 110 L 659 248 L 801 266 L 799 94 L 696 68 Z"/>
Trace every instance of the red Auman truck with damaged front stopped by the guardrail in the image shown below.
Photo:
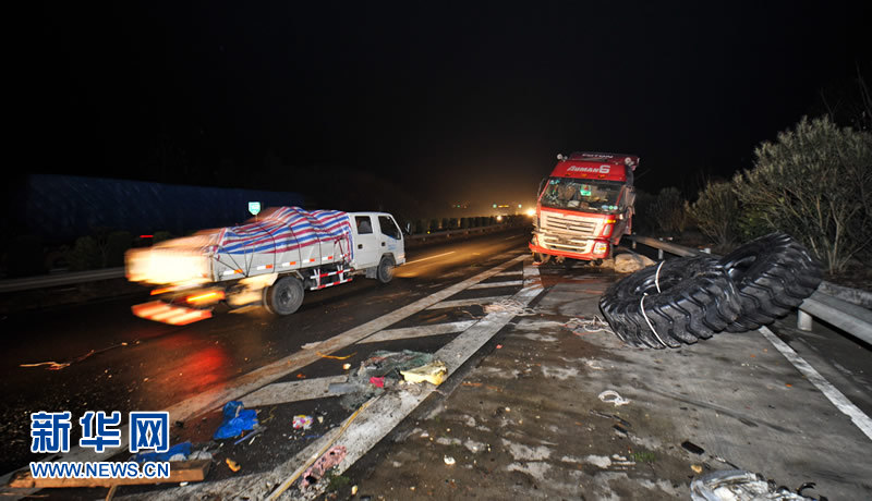
<path fill-rule="evenodd" d="M 634 155 L 574 152 L 557 156 L 540 185 L 530 249 L 536 262 L 602 262 L 632 230 Z"/>

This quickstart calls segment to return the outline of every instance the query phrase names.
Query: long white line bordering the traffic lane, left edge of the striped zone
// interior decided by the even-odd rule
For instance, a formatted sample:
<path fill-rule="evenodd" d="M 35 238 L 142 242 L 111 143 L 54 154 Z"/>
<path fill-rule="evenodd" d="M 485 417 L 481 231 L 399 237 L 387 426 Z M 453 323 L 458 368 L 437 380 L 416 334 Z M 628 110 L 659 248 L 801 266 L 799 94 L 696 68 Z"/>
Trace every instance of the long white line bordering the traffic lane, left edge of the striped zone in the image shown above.
<path fill-rule="evenodd" d="M 384 315 L 382 317 L 376 318 L 375 320 L 371 320 L 366 323 L 360 325 L 352 329 L 349 329 L 341 334 L 335 335 L 328 340 L 325 340 L 320 343 L 317 343 L 314 346 L 317 346 L 317 352 L 313 350 L 302 350 L 292 355 L 286 356 L 284 358 L 280 358 L 272 364 L 265 365 L 259 369 L 252 370 L 249 374 L 244 374 L 232 381 L 229 381 L 225 384 L 221 389 L 216 389 L 211 391 L 207 391 L 201 393 L 196 396 L 192 396 L 187 400 L 179 402 L 178 404 L 170 405 L 169 407 L 161 410 L 160 412 L 168 412 L 170 413 L 170 423 L 174 423 L 177 420 L 184 421 L 192 417 L 197 417 L 202 414 L 205 414 L 209 411 L 220 408 L 223 406 L 225 403 L 240 400 L 243 395 L 252 393 L 255 390 L 263 388 L 266 384 L 279 379 L 283 376 L 287 376 L 294 370 L 299 370 L 308 364 L 317 362 L 320 359 L 322 354 L 330 354 L 338 350 L 341 350 L 350 344 L 356 343 L 360 340 L 367 338 L 375 332 L 383 330 L 384 328 L 391 326 L 403 318 L 410 317 L 417 311 L 421 311 L 433 304 L 436 304 L 446 297 L 451 297 L 452 295 L 468 289 L 470 285 L 474 285 L 482 280 L 487 280 L 491 277 L 504 271 L 506 268 L 513 266 L 514 264 L 524 260 L 528 256 L 525 254 L 520 256 L 514 256 L 512 259 L 508 261 L 497 265 L 489 270 L 483 271 L 475 277 L 469 278 L 462 282 L 456 283 L 449 288 L 443 289 L 439 292 L 431 294 L 426 297 L 422 297 L 415 301 L 412 304 L 405 305 L 402 308 L 395 309 L 393 311 Z M 129 443 L 128 440 L 130 439 L 130 428 L 128 424 L 124 424 L 118 428 L 121 431 L 121 443 L 119 447 L 121 449 L 128 448 Z M 94 462 L 94 461 L 106 461 L 111 455 L 116 454 L 117 451 L 114 449 L 109 449 L 104 453 L 94 452 L 93 449 L 89 448 L 81 448 L 78 445 L 74 445 L 70 448 L 70 452 L 65 453 L 61 456 L 52 456 L 56 461 L 83 461 L 83 462 Z M 25 468 L 27 468 L 25 466 Z M 8 475 L 11 475 L 8 474 Z M 7 476 L 8 476 L 7 475 Z M 5 476 L 4 476 L 5 477 Z"/>

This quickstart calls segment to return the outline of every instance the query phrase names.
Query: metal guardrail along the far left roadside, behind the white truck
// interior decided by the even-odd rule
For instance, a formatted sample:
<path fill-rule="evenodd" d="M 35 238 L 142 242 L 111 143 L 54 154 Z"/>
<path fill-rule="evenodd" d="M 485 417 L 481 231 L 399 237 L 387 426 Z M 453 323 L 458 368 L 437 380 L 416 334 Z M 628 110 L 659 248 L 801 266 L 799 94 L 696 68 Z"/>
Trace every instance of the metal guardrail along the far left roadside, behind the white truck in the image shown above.
<path fill-rule="evenodd" d="M 425 235 L 407 235 L 405 242 L 425 243 L 450 239 L 458 235 L 473 235 L 487 233 L 500 229 L 513 228 L 511 224 L 491 224 L 479 228 L 464 228 L 461 230 L 448 230 L 428 233 Z M 124 268 L 104 268 L 99 270 L 72 271 L 57 274 L 41 274 L 37 277 L 25 277 L 21 279 L 0 280 L 0 294 L 8 292 L 28 291 L 34 289 L 46 289 L 60 285 L 72 285 L 75 283 L 96 282 L 99 280 L 111 280 L 124 278 Z"/>

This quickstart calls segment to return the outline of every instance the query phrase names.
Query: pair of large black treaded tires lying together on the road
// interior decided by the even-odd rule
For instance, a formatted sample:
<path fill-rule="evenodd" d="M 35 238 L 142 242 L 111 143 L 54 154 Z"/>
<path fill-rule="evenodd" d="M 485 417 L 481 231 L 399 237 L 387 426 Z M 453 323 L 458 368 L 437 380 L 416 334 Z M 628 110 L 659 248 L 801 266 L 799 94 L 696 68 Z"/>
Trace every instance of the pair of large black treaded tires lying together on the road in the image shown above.
<path fill-rule="evenodd" d="M 610 286 L 600 309 L 615 333 L 640 347 L 679 347 L 717 332 L 758 329 L 787 315 L 821 283 L 801 244 L 772 233 L 720 259 L 661 261 Z"/>

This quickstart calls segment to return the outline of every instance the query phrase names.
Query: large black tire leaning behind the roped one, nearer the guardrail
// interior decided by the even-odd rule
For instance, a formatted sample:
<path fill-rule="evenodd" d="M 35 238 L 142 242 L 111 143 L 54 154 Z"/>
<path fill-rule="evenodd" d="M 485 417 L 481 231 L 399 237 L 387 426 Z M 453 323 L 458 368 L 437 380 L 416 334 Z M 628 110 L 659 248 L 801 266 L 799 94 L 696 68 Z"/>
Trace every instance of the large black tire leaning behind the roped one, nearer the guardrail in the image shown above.
<path fill-rule="evenodd" d="M 784 233 L 749 242 L 720 259 L 741 298 L 729 332 L 760 328 L 787 315 L 810 296 L 823 278 L 821 266 L 800 243 Z"/>

